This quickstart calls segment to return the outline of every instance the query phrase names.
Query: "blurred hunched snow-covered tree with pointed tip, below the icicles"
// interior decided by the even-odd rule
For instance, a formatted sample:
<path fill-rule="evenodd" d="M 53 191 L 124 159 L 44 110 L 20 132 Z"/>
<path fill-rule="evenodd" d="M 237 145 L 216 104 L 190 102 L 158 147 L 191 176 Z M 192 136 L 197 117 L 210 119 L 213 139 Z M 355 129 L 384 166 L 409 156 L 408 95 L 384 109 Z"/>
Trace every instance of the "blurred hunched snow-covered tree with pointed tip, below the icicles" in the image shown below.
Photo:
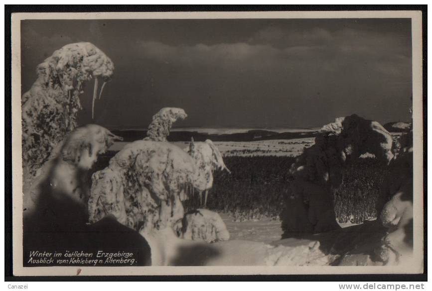
<path fill-rule="evenodd" d="M 70 132 L 57 148 L 54 157 L 44 164 L 42 174 L 35 179 L 31 188 L 28 197 L 31 201 L 26 205 L 28 211 L 24 214 L 39 217 L 32 219 L 37 221 L 31 223 L 61 226 L 65 223 L 64 219 L 70 220 L 71 217 L 86 220 L 90 194 L 88 172 L 98 156 L 114 141 L 121 139 L 95 124 L 78 127 Z M 76 212 L 64 213 L 72 209 Z M 50 219 L 49 214 L 57 218 Z"/>

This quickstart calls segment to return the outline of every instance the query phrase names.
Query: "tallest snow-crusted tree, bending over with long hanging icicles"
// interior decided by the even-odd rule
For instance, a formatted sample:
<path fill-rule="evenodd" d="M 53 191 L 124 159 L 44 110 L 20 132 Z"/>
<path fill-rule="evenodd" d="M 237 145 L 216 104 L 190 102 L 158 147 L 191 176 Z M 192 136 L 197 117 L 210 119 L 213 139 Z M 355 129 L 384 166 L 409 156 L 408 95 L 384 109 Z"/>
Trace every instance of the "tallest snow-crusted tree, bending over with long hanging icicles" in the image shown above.
<path fill-rule="evenodd" d="M 37 80 L 21 98 L 24 180 L 37 175 L 55 147 L 77 126 L 85 83 L 95 80 L 94 107 L 98 80 L 105 85 L 113 71 L 110 58 L 89 42 L 65 45 L 37 66 Z"/>

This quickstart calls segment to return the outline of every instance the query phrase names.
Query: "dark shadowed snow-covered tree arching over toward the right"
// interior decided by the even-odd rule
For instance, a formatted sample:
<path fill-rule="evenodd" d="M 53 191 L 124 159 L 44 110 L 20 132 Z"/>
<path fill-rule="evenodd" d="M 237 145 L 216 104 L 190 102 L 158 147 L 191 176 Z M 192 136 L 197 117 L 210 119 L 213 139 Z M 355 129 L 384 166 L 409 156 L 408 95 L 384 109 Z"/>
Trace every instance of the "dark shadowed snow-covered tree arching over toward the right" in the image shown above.
<path fill-rule="evenodd" d="M 305 229 L 321 232 L 338 228 L 332 189 L 342 183 L 346 163 L 357 160 L 361 154 L 371 153 L 378 163 L 388 165 L 393 159 L 392 144 L 391 134 L 381 124 L 356 114 L 324 125 L 315 144 L 305 148 L 289 169 L 294 181 L 283 212 L 286 236 Z M 296 214 L 301 205 L 307 219 Z"/>

